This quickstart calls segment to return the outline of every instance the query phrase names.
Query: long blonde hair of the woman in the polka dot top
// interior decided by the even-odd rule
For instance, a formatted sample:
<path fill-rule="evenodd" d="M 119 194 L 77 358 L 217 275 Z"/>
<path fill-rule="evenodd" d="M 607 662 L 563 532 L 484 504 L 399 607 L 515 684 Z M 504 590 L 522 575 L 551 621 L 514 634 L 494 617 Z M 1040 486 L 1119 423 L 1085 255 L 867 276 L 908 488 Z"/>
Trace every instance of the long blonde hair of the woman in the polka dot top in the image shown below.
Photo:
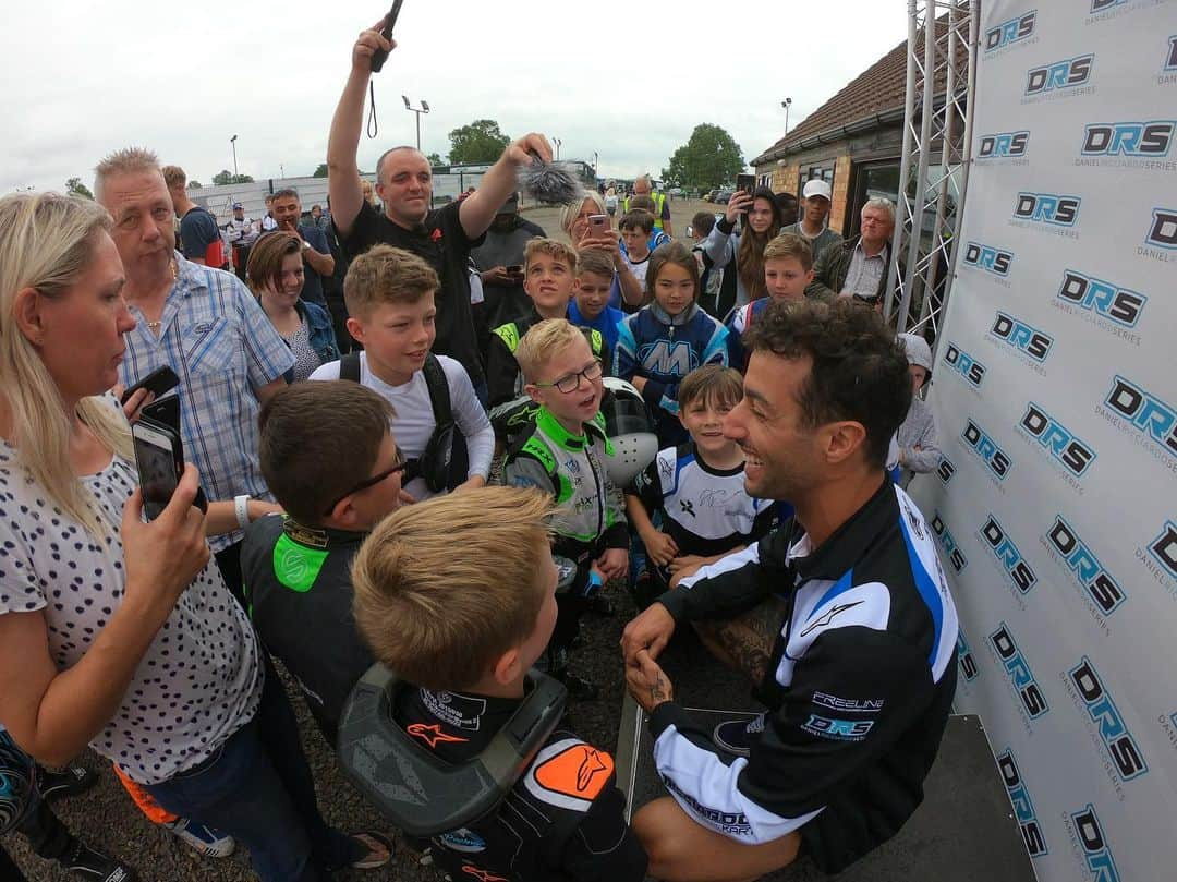
<path fill-rule="evenodd" d="M 16 326 L 16 293 L 60 297 L 89 266 L 111 215 L 98 203 L 58 193 L 0 199 L 0 390 L 12 412 L 16 463 L 48 498 L 93 536 L 109 532 L 69 462 L 69 415 L 36 349 Z M 77 417 L 102 446 L 134 456 L 126 419 L 100 397 L 82 398 Z"/>

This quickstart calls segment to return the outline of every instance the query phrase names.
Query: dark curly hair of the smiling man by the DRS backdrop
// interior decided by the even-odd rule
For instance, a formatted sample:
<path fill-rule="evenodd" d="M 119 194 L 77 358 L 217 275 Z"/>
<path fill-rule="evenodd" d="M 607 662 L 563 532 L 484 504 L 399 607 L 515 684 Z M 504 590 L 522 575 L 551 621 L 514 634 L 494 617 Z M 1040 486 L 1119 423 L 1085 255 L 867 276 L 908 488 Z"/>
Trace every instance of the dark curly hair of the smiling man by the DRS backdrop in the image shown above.
<path fill-rule="evenodd" d="M 807 427 L 843 419 L 866 429 L 866 460 L 886 465 L 891 436 L 911 406 L 907 356 L 879 314 L 850 298 L 773 303 L 745 345 L 787 359 L 813 359 L 798 404 Z"/>

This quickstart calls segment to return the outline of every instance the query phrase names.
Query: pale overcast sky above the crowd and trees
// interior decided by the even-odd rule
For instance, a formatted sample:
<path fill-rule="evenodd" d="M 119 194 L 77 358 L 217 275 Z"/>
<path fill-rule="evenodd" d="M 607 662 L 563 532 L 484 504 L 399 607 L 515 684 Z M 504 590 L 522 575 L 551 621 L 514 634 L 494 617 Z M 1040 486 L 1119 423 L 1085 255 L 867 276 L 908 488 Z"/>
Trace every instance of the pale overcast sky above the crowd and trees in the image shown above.
<path fill-rule="evenodd" d="M 311 174 L 355 35 L 385 0 L 5 0 L 0 29 L 0 193 L 93 183 L 107 152 L 145 145 L 208 185 Z M 814 22 L 822 20 L 824 26 Z M 656 175 L 700 122 L 726 128 L 752 159 L 906 37 L 903 0 L 819 4 L 720 0 L 405 0 L 400 47 L 375 80 L 385 147 L 415 140 L 401 94 L 430 102 L 421 147 L 498 120 L 538 131 L 565 159 L 600 154 L 603 175 Z"/>

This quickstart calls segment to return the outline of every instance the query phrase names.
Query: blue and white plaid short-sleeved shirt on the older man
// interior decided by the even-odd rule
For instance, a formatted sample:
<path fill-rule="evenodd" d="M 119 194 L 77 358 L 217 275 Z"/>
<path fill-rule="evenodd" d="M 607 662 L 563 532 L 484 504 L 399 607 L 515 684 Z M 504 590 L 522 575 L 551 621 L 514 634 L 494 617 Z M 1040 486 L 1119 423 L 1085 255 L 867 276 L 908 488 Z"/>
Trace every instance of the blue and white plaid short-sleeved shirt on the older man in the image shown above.
<path fill-rule="evenodd" d="M 239 493 L 273 499 L 258 464 L 255 391 L 280 379 L 294 364 L 250 290 L 232 273 L 188 263 L 175 254 L 179 272 L 164 304 L 159 337 L 142 313 L 125 334 L 119 369 L 131 385 L 165 364 L 180 378 L 180 436 L 185 457 L 200 470 L 210 500 Z M 214 551 L 239 542 L 237 530 L 210 539 Z"/>

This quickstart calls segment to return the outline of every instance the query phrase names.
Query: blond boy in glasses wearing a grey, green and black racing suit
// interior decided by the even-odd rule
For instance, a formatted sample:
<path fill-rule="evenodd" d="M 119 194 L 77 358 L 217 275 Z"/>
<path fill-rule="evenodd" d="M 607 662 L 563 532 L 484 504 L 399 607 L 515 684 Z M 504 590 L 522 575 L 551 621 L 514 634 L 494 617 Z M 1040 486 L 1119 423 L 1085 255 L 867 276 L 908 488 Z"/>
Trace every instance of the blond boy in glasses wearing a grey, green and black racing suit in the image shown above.
<path fill-rule="evenodd" d="M 596 687 L 568 672 L 567 650 L 588 596 L 604 582 L 624 578 L 630 563 L 624 503 L 605 469 L 612 444 L 600 413 L 601 366 L 584 333 L 565 319 L 533 325 L 519 341 L 516 359 L 527 382 L 524 389 L 539 410 L 508 447 L 503 480 L 556 497 L 552 550 L 576 563 L 577 578 L 557 598 L 560 611 L 547 646 L 548 672 L 564 681 L 572 697 L 594 698 Z"/>

